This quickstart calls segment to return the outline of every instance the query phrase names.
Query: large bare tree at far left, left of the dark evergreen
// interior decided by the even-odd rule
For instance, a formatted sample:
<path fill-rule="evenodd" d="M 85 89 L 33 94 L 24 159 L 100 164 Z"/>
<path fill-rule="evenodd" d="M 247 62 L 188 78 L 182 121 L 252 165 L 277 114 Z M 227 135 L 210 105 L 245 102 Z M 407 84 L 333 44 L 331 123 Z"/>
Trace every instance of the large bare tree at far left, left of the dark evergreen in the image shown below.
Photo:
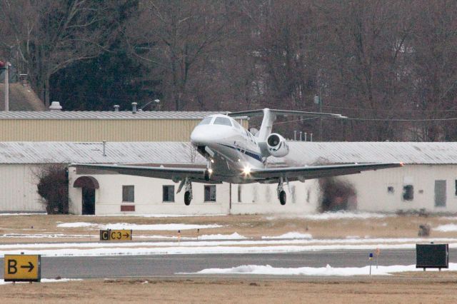
<path fill-rule="evenodd" d="M 116 10 L 91 0 L 1 0 L 9 47 L 19 52 L 32 85 L 49 106 L 49 80 L 75 61 L 98 56 L 116 34 Z M 119 4 L 118 4 L 119 5 Z"/>

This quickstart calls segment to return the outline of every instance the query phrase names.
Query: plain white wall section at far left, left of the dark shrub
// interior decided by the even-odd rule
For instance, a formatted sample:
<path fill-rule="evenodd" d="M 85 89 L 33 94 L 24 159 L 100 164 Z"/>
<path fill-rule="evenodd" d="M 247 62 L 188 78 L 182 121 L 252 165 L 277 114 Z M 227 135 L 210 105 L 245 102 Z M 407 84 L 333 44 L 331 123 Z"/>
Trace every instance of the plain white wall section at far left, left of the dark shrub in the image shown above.
<path fill-rule="evenodd" d="M 34 165 L 0 165 L 0 211 L 44 211 Z"/>

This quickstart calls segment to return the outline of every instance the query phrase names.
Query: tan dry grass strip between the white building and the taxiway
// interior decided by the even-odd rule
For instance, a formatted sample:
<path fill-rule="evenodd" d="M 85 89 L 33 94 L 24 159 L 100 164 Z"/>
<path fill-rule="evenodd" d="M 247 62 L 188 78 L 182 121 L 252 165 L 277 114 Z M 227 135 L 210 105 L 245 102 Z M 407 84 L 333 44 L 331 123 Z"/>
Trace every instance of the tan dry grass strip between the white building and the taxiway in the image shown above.
<path fill-rule="evenodd" d="M 388 216 L 386 218 L 369 219 L 337 219 L 313 221 L 303 218 L 283 218 L 278 216 L 193 216 L 179 218 L 145 218 L 139 216 L 0 216 L 0 243 L 18 242 L 64 242 L 99 240 L 97 228 L 59 228 L 60 222 L 88 223 L 135 223 L 135 224 L 220 224 L 221 228 L 201 229 L 202 234 L 239 233 L 249 238 L 258 239 L 263 235 L 281 235 L 288 232 L 310 233 L 313 238 L 346 238 L 348 235 L 360 238 L 416 238 L 419 225 L 429 224 L 432 227 L 431 238 L 457 238 L 456 232 L 438 232 L 433 227 L 448 223 L 457 223 L 457 217 L 439 216 Z M 69 238 L 15 238 L 5 237 L 12 233 L 22 234 L 54 234 L 78 235 Z M 177 231 L 139 230 L 138 235 L 176 236 Z M 196 230 L 181 230 L 181 237 L 195 238 Z M 147 240 L 148 238 L 137 238 Z M 151 239 L 153 239 L 151 237 Z"/>

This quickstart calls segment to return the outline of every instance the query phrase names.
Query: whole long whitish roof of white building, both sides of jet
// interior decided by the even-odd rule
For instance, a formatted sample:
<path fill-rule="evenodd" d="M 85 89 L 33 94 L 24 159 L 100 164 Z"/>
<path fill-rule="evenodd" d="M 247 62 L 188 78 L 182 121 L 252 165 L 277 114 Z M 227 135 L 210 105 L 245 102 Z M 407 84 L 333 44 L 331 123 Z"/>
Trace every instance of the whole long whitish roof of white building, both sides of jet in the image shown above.
<path fill-rule="evenodd" d="M 457 164 L 457 143 L 289 142 L 286 158 L 268 161 L 289 166 L 314 163 Z M 0 142 L 0 163 L 194 163 L 202 156 L 184 142 L 103 143 Z"/>

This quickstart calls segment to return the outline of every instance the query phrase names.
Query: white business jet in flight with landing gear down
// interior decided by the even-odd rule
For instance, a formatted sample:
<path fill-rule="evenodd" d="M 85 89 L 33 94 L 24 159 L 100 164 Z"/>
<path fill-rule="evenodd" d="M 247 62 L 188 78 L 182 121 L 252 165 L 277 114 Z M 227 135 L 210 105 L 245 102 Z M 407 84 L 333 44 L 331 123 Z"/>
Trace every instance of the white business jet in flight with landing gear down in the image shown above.
<path fill-rule="evenodd" d="M 261 128 L 254 136 L 234 118 L 262 116 Z M 192 182 L 196 183 L 277 183 L 278 200 L 286 204 L 284 183 L 312 178 L 341 176 L 403 166 L 402 163 L 365 163 L 331 166 L 303 166 L 267 168 L 266 159 L 270 156 L 284 157 L 289 147 L 283 136 L 271 133 L 273 122 L 278 116 L 346 118 L 333 113 L 303 111 L 263 110 L 216 114 L 204 118 L 191 133 L 191 143 L 206 158 L 205 168 L 164 168 L 121 165 L 74 164 L 79 168 L 94 168 L 102 171 L 131 176 L 171 179 L 180 182 L 178 191 L 184 187 L 184 203 L 189 206 L 192 200 Z"/>

